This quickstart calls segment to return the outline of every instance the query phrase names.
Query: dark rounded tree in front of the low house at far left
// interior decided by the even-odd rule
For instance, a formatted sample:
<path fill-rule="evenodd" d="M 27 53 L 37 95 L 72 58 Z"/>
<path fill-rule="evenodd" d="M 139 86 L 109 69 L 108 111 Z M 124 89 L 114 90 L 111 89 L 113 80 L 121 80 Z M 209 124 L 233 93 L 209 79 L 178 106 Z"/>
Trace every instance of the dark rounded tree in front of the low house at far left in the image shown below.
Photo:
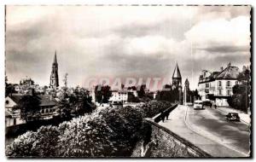
<path fill-rule="evenodd" d="M 37 95 L 24 95 L 18 103 L 20 119 L 32 121 L 40 118 L 40 99 Z"/>

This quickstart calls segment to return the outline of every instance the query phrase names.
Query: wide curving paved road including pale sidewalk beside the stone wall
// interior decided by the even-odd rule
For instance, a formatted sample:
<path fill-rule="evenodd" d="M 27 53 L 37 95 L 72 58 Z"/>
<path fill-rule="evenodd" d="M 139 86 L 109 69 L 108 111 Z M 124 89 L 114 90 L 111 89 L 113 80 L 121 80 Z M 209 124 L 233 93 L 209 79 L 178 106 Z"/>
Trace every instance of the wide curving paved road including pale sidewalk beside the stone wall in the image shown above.
<path fill-rule="evenodd" d="M 159 123 L 215 157 L 245 157 L 249 153 L 249 128 L 229 122 L 224 113 L 207 108 L 178 106 L 169 120 Z"/>

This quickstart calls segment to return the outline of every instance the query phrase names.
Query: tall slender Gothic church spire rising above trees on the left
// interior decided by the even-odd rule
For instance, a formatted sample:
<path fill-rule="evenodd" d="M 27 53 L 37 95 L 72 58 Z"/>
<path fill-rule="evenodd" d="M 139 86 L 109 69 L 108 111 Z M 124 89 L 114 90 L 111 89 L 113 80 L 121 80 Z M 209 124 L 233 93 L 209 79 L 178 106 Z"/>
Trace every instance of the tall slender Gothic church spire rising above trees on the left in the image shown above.
<path fill-rule="evenodd" d="M 49 86 L 54 89 L 56 89 L 59 86 L 58 62 L 57 62 L 56 51 L 55 51 L 55 58 L 52 63 L 52 70 L 50 73 Z"/>

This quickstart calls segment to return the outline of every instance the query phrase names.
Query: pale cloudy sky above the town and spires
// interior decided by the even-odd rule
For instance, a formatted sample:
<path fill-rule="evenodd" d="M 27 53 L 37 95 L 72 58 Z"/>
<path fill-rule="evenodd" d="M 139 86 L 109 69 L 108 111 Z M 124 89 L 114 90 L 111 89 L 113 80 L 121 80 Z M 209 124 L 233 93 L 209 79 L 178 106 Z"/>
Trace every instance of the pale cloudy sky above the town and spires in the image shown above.
<path fill-rule="evenodd" d="M 250 8 L 241 6 L 8 6 L 6 74 L 49 84 L 57 50 L 60 84 L 95 77 L 172 78 L 197 88 L 201 70 L 250 65 Z"/>

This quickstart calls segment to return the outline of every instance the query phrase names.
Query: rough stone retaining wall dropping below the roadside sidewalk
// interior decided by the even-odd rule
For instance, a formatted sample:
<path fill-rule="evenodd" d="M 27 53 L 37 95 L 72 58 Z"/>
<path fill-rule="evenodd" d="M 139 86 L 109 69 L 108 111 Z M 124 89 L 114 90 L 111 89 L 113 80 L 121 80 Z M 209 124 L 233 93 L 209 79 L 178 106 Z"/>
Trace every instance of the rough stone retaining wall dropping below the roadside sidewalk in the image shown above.
<path fill-rule="evenodd" d="M 211 157 L 152 119 L 143 120 L 143 129 L 143 140 L 137 143 L 132 157 Z"/>

